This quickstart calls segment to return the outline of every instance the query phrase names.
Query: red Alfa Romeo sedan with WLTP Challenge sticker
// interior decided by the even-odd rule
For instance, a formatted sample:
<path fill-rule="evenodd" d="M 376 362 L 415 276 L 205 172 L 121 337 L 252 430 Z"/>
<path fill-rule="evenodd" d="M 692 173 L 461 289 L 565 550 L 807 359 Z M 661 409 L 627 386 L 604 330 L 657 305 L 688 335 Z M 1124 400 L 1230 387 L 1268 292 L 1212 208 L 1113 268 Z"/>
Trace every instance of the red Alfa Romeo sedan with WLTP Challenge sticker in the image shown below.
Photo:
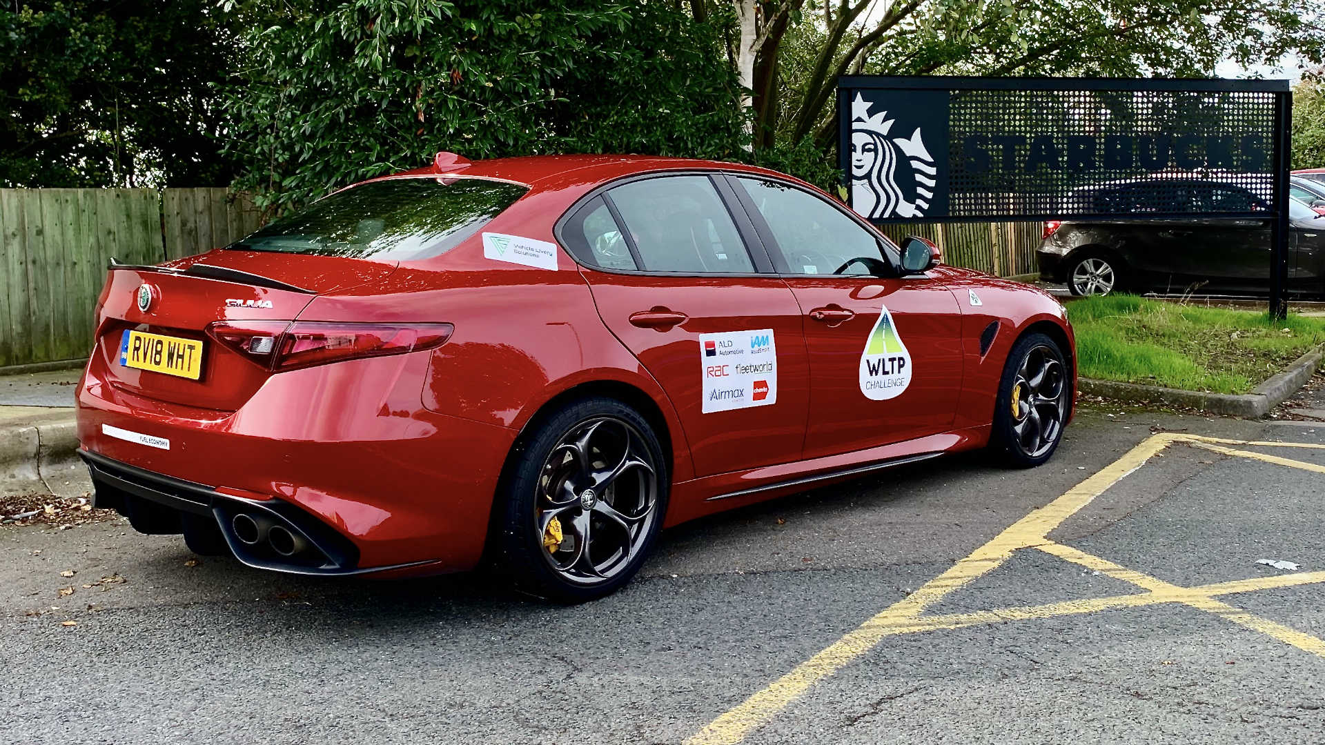
<path fill-rule="evenodd" d="M 301 574 L 584 601 L 668 525 L 947 452 L 1037 465 L 1063 306 L 772 171 L 469 162 L 113 264 L 78 388 L 95 504 Z"/>

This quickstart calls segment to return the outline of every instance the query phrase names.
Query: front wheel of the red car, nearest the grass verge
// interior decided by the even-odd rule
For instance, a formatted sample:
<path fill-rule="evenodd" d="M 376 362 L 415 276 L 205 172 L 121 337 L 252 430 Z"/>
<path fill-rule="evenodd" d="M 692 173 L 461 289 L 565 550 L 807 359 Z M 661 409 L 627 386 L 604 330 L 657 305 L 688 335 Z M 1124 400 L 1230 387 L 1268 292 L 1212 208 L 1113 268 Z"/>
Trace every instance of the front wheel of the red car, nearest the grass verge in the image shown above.
<path fill-rule="evenodd" d="M 1040 465 L 1063 441 L 1071 406 L 1072 375 L 1063 347 L 1045 334 L 1022 337 L 1003 365 L 990 449 L 1006 465 Z"/>

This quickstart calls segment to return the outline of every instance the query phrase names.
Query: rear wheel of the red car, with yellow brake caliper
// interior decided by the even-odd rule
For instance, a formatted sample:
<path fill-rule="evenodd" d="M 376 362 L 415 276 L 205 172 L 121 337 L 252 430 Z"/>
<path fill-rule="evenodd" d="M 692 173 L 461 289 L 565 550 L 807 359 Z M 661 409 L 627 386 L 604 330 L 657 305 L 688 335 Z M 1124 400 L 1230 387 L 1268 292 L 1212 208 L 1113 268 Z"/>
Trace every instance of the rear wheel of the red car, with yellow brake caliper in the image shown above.
<path fill-rule="evenodd" d="M 603 396 L 570 402 L 542 416 L 513 452 L 494 505 L 497 567 L 549 601 L 610 595 L 653 547 L 669 487 L 644 416 Z"/>

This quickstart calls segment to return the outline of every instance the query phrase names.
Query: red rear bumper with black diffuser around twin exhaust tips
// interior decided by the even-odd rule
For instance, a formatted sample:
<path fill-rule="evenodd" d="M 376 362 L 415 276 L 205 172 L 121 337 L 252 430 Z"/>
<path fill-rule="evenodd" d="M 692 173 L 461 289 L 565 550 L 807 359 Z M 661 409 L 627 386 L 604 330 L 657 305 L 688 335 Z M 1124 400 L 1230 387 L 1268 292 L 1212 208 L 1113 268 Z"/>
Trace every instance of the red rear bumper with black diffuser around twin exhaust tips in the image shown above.
<path fill-rule="evenodd" d="M 417 353 L 282 372 L 223 412 L 126 392 L 94 359 L 78 390 L 81 455 L 98 504 L 118 509 L 127 494 L 130 505 L 146 500 L 216 521 L 253 566 L 301 574 L 472 569 L 515 431 L 423 408 L 427 366 L 428 353 Z M 231 526 L 241 512 L 302 537 L 319 561 L 241 545 Z"/>

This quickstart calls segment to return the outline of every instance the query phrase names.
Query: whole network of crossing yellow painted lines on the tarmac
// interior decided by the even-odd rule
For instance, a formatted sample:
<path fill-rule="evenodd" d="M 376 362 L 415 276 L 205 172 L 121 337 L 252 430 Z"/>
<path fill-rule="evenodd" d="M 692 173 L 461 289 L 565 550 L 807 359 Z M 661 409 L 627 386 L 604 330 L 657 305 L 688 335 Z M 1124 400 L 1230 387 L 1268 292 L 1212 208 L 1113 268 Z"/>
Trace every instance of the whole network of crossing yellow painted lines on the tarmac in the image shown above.
<path fill-rule="evenodd" d="M 930 579 L 906 598 L 897 601 L 886 610 L 869 618 L 815 656 L 796 665 L 795 669 L 783 675 L 765 689 L 758 691 L 737 707 L 722 713 L 693 737 L 686 740 L 686 745 L 735 745 L 737 742 L 741 742 L 750 732 L 776 716 L 802 693 L 808 691 L 810 687 L 825 677 L 832 676 L 843 667 L 865 655 L 877 647 L 885 638 L 900 634 L 953 630 L 977 624 L 1003 623 L 1008 620 L 1032 620 L 1060 615 L 1081 615 L 1102 610 L 1141 607 L 1159 603 L 1182 603 L 1189 607 L 1212 612 L 1220 618 L 1228 619 L 1232 623 L 1265 634 L 1273 639 L 1292 644 L 1298 650 L 1325 658 L 1325 642 L 1321 639 L 1309 634 L 1302 634 L 1269 619 L 1256 616 L 1242 608 L 1215 599 L 1218 595 L 1325 583 L 1325 571 L 1239 579 L 1199 587 L 1179 587 L 1141 571 L 1116 565 L 1108 559 L 1086 554 L 1079 549 L 1057 544 L 1047 537 L 1055 528 L 1061 525 L 1077 510 L 1090 504 L 1092 500 L 1109 489 L 1109 487 L 1113 487 L 1128 475 L 1136 472 L 1151 457 L 1175 443 L 1202 447 L 1232 457 L 1249 457 L 1265 463 L 1273 463 L 1276 465 L 1287 465 L 1291 468 L 1325 473 L 1325 467 L 1312 463 L 1223 447 L 1232 444 L 1244 447 L 1296 447 L 1325 449 L 1325 445 L 1313 443 L 1228 440 L 1223 437 L 1203 437 L 1199 435 L 1170 432 L 1151 435 L 1124 453 L 1124 456 L 1118 460 L 1104 467 L 1101 471 L 1089 476 L 1085 481 L 1081 481 L 1072 489 L 1068 489 L 1068 492 L 1063 496 L 1032 510 L 1026 517 L 1006 528 L 983 546 L 971 551 L 970 555 L 958 561 L 947 571 L 943 571 L 934 579 Z M 1064 561 L 1088 566 L 1101 574 L 1136 585 L 1142 590 L 1142 593 L 1108 598 L 1090 598 L 1084 601 L 1067 601 L 1044 606 L 996 608 L 971 614 L 921 615 L 928 607 L 933 606 L 954 590 L 969 585 L 971 581 L 1000 566 L 1011 558 L 1015 551 L 1022 549 L 1040 550 Z"/>

